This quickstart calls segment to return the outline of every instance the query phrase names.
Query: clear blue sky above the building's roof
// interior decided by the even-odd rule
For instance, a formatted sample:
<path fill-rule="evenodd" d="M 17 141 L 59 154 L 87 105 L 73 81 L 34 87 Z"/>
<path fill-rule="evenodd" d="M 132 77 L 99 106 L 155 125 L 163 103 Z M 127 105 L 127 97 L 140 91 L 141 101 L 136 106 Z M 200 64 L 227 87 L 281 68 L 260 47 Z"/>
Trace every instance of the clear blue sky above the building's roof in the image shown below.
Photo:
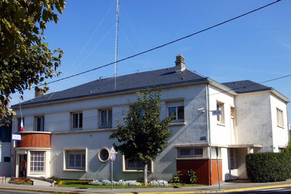
<path fill-rule="evenodd" d="M 120 0 L 118 59 L 259 8 L 274 0 Z M 291 74 L 291 1 L 258 12 L 172 45 L 120 62 L 118 75 L 171 67 L 175 56 L 186 67 L 218 82 L 267 81 Z M 45 35 L 50 49 L 61 48 L 64 78 L 114 61 L 115 0 L 70 0 L 58 24 Z M 114 65 L 49 85 L 49 92 L 112 77 Z M 52 79 L 55 80 L 55 79 Z M 52 81 L 48 80 L 48 81 Z M 291 77 L 264 83 L 291 99 Z M 18 103 L 12 95 L 11 105 Z M 34 97 L 26 91 L 24 100 Z M 291 108 L 290 108 L 291 109 Z M 291 110 L 289 110 L 291 121 Z M 290 122 L 291 123 L 291 122 Z"/>

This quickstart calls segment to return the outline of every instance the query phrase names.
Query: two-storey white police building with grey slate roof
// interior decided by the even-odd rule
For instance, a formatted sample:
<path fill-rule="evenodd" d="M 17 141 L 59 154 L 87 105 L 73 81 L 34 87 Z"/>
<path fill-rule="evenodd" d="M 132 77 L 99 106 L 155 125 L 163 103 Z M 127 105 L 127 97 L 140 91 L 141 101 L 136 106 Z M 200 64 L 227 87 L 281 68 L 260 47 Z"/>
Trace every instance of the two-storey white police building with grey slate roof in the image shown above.
<path fill-rule="evenodd" d="M 117 77 L 116 90 L 113 78 L 100 79 L 21 103 L 24 131 L 11 154 L 15 176 L 23 175 L 20 164 L 27 160 L 27 176 L 109 179 L 109 150 L 117 141 L 108 137 L 116 118 L 122 120 L 137 91 L 153 86 L 162 86 L 161 118 L 175 113 L 176 119 L 168 146 L 149 165 L 149 179 L 170 181 L 177 170 L 193 169 L 199 183 L 217 183 L 215 146 L 220 179 L 246 178 L 247 153 L 280 152 L 288 143 L 286 97 L 253 81 L 218 83 L 185 68 L 177 55 L 175 67 Z M 16 132 L 19 105 L 12 108 Z M 211 114 L 217 109 L 222 115 Z M 113 168 L 113 179 L 143 178 L 140 164 L 121 154 Z"/>

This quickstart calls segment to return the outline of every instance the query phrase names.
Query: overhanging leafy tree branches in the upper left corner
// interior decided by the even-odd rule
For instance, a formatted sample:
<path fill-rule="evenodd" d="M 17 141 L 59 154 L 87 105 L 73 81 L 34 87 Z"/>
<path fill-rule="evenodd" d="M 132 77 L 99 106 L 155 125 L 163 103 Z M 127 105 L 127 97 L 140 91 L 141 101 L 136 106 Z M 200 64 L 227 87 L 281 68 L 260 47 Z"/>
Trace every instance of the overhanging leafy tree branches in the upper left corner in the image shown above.
<path fill-rule="evenodd" d="M 65 0 L 0 0 L 0 119 L 7 123 L 11 94 L 22 98 L 23 90 L 61 73 L 56 69 L 63 51 L 48 48 L 44 30 L 47 22 L 57 23 L 54 11 L 64 8 Z"/>

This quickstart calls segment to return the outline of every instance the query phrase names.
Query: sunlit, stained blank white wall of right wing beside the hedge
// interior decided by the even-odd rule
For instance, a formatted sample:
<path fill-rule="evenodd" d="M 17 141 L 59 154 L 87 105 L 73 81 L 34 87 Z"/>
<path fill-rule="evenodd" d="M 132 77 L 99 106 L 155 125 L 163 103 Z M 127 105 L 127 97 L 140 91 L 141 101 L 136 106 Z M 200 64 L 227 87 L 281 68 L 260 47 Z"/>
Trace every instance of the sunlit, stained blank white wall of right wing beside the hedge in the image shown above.
<path fill-rule="evenodd" d="M 238 144 L 259 144 L 261 152 L 273 151 L 270 92 L 235 97 Z"/>

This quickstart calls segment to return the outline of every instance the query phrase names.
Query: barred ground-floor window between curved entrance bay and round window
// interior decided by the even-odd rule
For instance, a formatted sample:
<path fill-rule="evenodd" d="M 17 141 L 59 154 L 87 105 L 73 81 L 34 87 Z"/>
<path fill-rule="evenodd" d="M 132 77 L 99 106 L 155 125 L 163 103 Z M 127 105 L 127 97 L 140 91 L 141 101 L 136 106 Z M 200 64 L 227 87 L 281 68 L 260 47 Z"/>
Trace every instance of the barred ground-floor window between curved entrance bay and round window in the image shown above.
<path fill-rule="evenodd" d="M 81 151 L 66 151 L 66 169 L 85 170 L 85 150 Z"/>

